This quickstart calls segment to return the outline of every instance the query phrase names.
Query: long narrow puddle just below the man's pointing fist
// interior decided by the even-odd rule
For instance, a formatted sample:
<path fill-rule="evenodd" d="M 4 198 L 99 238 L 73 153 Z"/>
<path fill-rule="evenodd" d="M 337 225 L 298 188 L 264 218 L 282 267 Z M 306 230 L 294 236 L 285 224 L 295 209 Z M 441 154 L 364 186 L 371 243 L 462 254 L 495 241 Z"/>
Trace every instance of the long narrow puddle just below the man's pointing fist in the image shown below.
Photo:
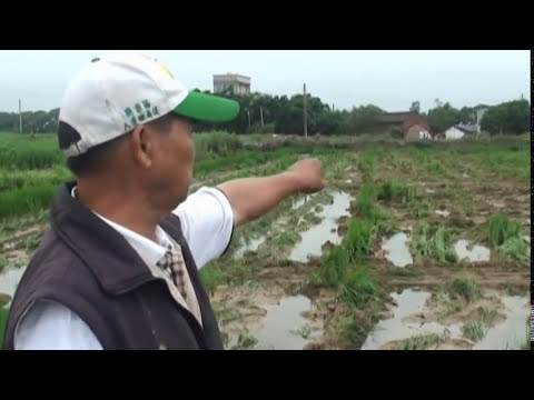
<path fill-rule="evenodd" d="M 324 206 L 318 217 L 323 221 L 301 233 L 301 241 L 293 249 L 289 260 L 298 262 L 307 262 L 309 257 L 320 257 L 322 247 L 327 241 L 334 244 L 342 242 L 342 237 L 337 233 L 337 219 L 343 216 L 349 216 L 348 207 L 353 200 L 352 196 L 346 192 L 337 192 L 333 194 L 333 203 Z M 333 232 L 333 230 L 335 230 Z"/>

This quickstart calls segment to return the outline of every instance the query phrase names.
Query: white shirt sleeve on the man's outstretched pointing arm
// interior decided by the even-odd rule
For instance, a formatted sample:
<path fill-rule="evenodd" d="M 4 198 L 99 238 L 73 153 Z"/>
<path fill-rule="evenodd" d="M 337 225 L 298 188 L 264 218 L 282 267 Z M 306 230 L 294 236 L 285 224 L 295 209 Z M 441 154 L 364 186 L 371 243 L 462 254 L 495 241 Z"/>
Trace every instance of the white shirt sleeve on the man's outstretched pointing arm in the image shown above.
<path fill-rule="evenodd" d="M 234 233 L 234 212 L 225 193 L 201 188 L 175 211 L 197 268 L 221 257 Z"/>

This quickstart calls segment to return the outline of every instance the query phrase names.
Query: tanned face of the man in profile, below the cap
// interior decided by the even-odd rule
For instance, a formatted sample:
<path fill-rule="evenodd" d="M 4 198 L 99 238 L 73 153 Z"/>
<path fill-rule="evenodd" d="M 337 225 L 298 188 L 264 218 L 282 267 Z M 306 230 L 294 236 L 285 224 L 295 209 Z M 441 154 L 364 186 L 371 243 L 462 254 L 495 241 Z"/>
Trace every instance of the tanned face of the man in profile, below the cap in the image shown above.
<path fill-rule="evenodd" d="M 187 198 L 195 162 L 192 129 L 189 120 L 172 116 L 169 131 L 157 136 L 150 186 L 158 208 L 171 211 Z"/>

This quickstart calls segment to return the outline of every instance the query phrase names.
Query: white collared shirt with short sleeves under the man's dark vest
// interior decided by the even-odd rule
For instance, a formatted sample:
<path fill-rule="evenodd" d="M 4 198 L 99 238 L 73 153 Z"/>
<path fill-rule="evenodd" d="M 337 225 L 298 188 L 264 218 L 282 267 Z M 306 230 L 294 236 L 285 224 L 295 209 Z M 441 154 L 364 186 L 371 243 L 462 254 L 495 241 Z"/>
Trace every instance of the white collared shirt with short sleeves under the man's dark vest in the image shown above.
<path fill-rule="evenodd" d="M 175 211 L 197 268 L 219 258 L 229 244 L 234 213 L 228 199 L 217 189 L 202 188 L 188 197 Z M 98 214 L 97 214 L 98 216 Z M 156 264 L 170 243 L 158 226 L 154 242 L 116 222 L 98 216 L 120 234 L 146 262 Z M 209 238 L 209 240 L 206 240 Z M 14 336 L 16 350 L 101 350 L 91 329 L 69 308 L 52 301 L 39 301 L 24 314 Z"/>

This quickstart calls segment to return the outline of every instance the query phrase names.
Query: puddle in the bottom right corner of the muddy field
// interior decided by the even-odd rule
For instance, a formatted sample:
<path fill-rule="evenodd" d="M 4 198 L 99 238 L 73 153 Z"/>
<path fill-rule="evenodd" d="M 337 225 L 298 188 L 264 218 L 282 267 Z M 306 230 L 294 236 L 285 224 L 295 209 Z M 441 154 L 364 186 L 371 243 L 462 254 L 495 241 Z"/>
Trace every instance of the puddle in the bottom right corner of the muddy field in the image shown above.
<path fill-rule="evenodd" d="M 511 296 L 502 299 L 506 320 L 490 329 L 473 350 L 517 350 L 527 339 L 526 319 L 530 316 L 530 299 Z"/>

